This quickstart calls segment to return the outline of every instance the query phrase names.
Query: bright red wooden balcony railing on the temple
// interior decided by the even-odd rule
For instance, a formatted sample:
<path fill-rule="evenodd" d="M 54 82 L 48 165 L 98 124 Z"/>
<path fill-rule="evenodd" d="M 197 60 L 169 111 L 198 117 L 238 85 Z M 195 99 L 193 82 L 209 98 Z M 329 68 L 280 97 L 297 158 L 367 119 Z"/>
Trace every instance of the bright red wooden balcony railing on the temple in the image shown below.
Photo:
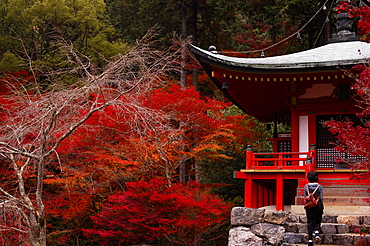
<path fill-rule="evenodd" d="M 246 153 L 246 169 L 302 169 L 314 170 L 316 147 L 311 145 L 308 152 L 276 152 L 253 153 L 252 146 L 248 146 Z"/>

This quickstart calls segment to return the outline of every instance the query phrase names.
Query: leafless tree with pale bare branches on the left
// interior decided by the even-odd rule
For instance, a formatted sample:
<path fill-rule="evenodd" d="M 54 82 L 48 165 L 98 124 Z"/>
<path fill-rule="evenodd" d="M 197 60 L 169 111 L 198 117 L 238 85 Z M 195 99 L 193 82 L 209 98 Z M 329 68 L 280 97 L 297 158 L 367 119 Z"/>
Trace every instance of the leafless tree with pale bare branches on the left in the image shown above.
<path fill-rule="evenodd" d="M 63 71 L 43 72 L 51 82 L 46 91 L 37 80 L 27 89 L 10 83 L 12 98 L 0 98 L 9 100 L 7 108 L 0 108 L 6 113 L 6 119 L 0 123 L 0 163 L 11 170 L 11 175 L 0 183 L 0 208 L 21 221 L 10 225 L 0 219 L 0 232 L 27 234 L 28 243 L 35 246 L 46 245 L 45 168 L 50 158 L 58 155 L 63 140 L 84 127 L 93 114 L 111 105 L 130 107 L 132 120 L 140 119 L 147 127 L 156 127 L 157 131 L 168 128 L 163 124 L 167 115 L 144 108 L 135 97 L 158 86 L 168 72 L 178 70 L 177 51 L 152 50 L 148 37 L 126 54 L 115 57 L 101 72 L 71 44 L 61 40 L 59 45 L 66 64 L 72 66 Z M 66 85 L 60 81 L 66 76 L 78 80 Z M 121 100 L 123 97 L 125 100 Z M 36 177 L 34 185 L 27 182 L 30 174 Z"/>

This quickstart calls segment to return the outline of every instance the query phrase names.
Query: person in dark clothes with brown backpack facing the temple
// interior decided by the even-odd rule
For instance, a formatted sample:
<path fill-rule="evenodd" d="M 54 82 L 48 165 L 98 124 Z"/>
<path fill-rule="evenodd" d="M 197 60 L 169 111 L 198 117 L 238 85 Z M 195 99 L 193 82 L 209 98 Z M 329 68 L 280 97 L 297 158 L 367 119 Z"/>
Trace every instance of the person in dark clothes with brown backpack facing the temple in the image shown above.
<path fill-rule="evenodd" d="M 304 197 L 307 197 L 309 193 L 314 192 L 313 195 L 315 199 L 319 199 L 318 205 L 316 207 L 306 209 L 308 246 L 313 246 L 313 234 L 315 234 L 315 243 L 321 243 L 319 233 L 321 228 L 322 215 L 324 212 L 323 187 L 318 183 L 319 178 L 315 171 L 310 171 L 307 174 L 307 179 L 309 183 L 304 186 Z"/>

